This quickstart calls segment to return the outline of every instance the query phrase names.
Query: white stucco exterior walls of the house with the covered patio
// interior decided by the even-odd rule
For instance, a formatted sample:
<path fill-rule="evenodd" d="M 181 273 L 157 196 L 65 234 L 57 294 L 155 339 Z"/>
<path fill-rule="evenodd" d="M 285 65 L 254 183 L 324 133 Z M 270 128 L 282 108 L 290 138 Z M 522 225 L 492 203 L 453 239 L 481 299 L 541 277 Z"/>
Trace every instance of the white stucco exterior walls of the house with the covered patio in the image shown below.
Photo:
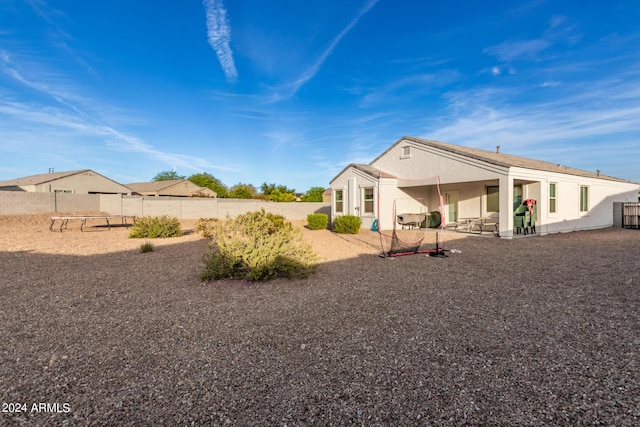
<path fill-rule="evenodd" d="M 408 147 L 408 153 L 405 148 Z M 458 218 L 495 217 L 499 222 L 500 236 L 513 237 L 514 187 L 522 186 L 522 200 L 537 201 L 536 232 L 539 234 L 588 230 L 613 225 L 613 203 L 634 201 L 638 197 L 638 184 L 610 181 L 546 172 L 533 169 L 492 165 L 462 154 L 451 153 L 436 147 L 424 146 L 403 140 L 392 146 L 371 166 L 398 179 L 379 180 L 378 218 L 381 229 L 393 227 L 393 203 L 400 198 L 425 199 L 429 210 L 439 207 L 439 201 L 431 182 L 437 176 L 440 191 L 458 195 Z M 357 188 L 376 185 L 375 178 L 356 168 L 348 168 L 332 182 L 332 190 L 345 191 L 345 214 L 357 211 Z M 556 183 L 556 212 L 549 212 L 549 183 Z M 488 185 L 499 186 L 499 212 L 487 209 Z M 589 206 L 580 211 L 580 188 L 589 188 Z M 335 200 L 332 200 L 335 215 Z M 445 207 L 446 210 L 446 207 Z M 447 217 L 447 212 L 443 212 Z M 449 221 L 450 222 L 450 221 Z M 363 227 L 365 225 L 363 221 Z"/>

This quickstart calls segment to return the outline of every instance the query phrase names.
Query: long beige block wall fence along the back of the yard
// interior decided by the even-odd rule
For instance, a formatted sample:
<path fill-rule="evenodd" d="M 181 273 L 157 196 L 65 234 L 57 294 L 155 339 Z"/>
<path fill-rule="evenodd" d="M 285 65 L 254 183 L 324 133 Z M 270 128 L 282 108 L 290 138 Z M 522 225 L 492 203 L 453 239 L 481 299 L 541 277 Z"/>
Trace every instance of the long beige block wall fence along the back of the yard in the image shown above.
<path fill-rule="evenodd" d="M 110 215 L 224 219 L 260 209 L 283 215 L 292 221 L 305 220 L 312 213 L 331 213 L 330 204 L 312 202 L 275 203 L 244 199 L 0 191 L 0 215 L 105 212 Z"/>

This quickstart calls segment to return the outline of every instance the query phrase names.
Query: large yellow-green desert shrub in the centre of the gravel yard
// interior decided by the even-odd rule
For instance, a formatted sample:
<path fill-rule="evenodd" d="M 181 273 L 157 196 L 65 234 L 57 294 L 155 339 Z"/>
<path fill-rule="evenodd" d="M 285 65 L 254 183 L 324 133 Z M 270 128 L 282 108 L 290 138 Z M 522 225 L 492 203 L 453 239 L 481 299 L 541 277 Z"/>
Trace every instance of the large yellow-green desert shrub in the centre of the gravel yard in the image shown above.
<path fill-rule="evenodd" d="M 201 279 L 304 278 L 313 273 L 316 261 L 300 230 L 263 209 L 215 224 Z"/>

